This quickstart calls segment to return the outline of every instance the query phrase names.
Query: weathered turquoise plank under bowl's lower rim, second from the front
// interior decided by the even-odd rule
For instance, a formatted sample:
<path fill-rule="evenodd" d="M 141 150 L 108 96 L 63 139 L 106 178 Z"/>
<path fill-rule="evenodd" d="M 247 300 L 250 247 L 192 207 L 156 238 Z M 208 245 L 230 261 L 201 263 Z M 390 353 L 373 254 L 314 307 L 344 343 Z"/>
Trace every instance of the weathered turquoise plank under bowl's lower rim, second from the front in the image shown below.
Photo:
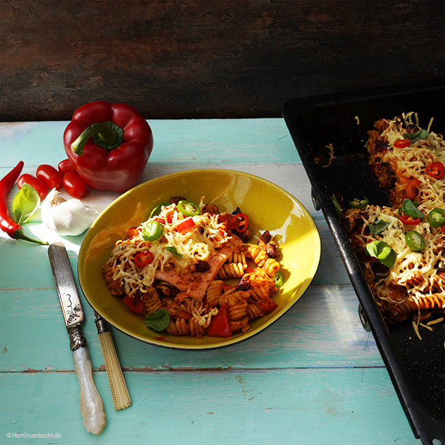
<path fill-rule="evenodd" d="M 73 370 L 55 289 L 1 290 L 0 301 L 3 372 Z M 94 314 L 83 296 L 81 301 L 86 314 L 84 333 L 94 369 L 99 369 L 103 357 Z M 265 331 L 205 352 L 151 346 L 115 329 L 112 332 L 120 364 L 127 369 L 383 367 L 372 334 L 361 326 L 357 307 L 351 285 L 312 285 L 301 301 Z"/>

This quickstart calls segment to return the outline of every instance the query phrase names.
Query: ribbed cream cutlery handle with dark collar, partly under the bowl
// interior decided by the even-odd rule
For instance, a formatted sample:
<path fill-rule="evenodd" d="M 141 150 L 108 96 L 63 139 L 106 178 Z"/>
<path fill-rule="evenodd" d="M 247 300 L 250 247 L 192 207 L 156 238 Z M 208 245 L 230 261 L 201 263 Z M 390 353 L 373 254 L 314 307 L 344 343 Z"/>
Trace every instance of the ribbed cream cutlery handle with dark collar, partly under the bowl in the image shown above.
<path fill-rule="evenodd" d="M 94 315 L 96 316 L 97 333 L 99 334 L 99 342 L 101 342 L 103 361 L 105 361 L 105 370 L 107 370 L 114 409 L 119 411 L 131 405 L 130 395 L 107 322 L 97 312 L 94 312 Z"/>

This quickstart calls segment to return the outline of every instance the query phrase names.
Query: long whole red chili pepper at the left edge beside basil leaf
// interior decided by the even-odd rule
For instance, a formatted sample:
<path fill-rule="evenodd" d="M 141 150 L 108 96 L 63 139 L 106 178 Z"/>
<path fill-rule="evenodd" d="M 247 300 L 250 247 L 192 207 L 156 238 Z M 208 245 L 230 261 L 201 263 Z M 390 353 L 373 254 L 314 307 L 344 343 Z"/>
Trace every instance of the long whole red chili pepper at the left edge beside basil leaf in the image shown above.
<path fill-rule="evenodd" d="M 8 194 L 14 186 L 18 176 L 23 169 L 23 161 L 19 162 L 11 171 L 0 180 L 0 227 L 5 233 L 14 240 L 25 240 L 36 242 L 38 244 L 48 244 L 40 240 L 33 240 L 23 233 L 23 229 L 10 216 L 7 201 Z"/>

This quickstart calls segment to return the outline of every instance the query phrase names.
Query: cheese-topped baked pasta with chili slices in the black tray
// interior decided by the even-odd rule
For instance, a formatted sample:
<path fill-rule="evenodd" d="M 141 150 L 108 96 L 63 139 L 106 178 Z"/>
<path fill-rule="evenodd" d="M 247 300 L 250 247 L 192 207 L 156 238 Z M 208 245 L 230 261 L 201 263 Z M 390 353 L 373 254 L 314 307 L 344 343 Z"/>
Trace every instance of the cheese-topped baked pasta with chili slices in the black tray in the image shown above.
<path fill-rule="evenodd" d="M 445 310 L 445 143 L 415 113 L 374 123 L 368 163 L 391 207 L 357 196 L 337 203 L 357 259 L 383 317 L 442 321 Z M 335 197 L 334 197 L 335 200 Z"/>

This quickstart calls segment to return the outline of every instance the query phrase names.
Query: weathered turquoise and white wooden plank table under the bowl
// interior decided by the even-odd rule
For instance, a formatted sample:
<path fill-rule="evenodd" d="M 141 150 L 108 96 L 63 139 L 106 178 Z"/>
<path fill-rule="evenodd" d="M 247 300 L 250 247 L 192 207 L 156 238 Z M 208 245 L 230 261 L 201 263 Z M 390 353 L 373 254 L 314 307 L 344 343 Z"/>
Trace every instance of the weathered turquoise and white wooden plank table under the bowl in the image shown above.
<path fill-rule="evenodd" d="M 372 333 L 280 118 L 153 120 L 147 181 L 194 168 L 227 168 L 281 186 L 310 212 L 322 240 L 320 266 L 300 301 L 249 340 L 207 351 L 151 346 L 112 329 L 132 405 L 116 411 L 94 314 L 81 295 L 107 425 L 82 425 L 79 383 L 47 246 L 0 233 L 1 444 L 420 444 L 398 402 Z M 3 177 L 64 159 L 66 122 L 2 123 Z M 16 192 L 9 196 L 9 204 Z M 97 210 L 118 195 L 90 190 Z M 47 231 L 40 211 L 25 233 L 66 245 L 76 270 L 84 235 Z M 76 277 L 77 279 L 77 277 Z"/>

